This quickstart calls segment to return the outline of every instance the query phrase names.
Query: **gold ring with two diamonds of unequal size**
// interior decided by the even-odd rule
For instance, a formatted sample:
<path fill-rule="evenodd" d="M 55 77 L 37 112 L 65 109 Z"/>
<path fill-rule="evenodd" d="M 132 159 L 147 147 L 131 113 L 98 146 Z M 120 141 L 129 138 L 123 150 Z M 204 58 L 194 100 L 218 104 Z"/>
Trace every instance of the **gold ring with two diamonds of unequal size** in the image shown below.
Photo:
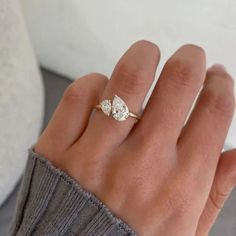
<path fill-rule="evenodd" d="M 140 120 L 141 117 L 129 111 L 128 106 L 125 102 L 117 95 L 113 100 L 103 100 L 99 105 L 95 106 L 96 109 L 102 110 L 106 116 L 112 115 L 112 117 L 117 121 L 124 121 L 128 117 Z"/>

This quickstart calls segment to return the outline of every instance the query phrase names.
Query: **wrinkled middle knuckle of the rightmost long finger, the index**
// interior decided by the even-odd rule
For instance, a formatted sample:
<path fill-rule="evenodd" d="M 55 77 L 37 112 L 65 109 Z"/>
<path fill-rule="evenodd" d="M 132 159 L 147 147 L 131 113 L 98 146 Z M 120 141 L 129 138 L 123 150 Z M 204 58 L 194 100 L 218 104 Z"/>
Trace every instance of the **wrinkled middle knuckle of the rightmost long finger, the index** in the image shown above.
<path fill-rule="evenodd" d="M 212 88 L 202 93 L 202 103 L 212 113 L 232 114 L 235 109 L 235 99 L 232 93 L 220 93 Z"/>

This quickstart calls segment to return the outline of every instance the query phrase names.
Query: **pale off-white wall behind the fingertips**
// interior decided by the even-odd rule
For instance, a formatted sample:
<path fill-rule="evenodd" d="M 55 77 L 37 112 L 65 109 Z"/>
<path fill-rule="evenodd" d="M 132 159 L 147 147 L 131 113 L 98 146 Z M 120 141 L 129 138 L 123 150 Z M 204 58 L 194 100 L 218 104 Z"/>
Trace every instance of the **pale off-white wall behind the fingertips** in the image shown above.
<path fill-rule="evenodd" d="M 185 43 L 202 46 L 208 66 L 223 63 L 236 78 L 235 0 L 20 2 L 40 65 L 59 74 L 77 78 L 96 71 L 109 77 L 124 51 L 147 39 L 161 49 L 156 79 Z M 227 143 L 236 146 L 236 114 Z"/>

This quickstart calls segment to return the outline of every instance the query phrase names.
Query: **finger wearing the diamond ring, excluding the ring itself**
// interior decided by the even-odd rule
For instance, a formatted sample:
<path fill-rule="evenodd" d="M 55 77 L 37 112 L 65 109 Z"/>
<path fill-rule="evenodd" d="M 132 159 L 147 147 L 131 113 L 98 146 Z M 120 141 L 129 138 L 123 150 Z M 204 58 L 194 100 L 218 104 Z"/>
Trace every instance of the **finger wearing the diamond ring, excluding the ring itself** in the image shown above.
<path fill-rule="evenodd" d="M 112 100 L 117 94 L 131 112 L 139 113 L 154 80 L 159 57 L 159 49 L 153 43 L 139 41 L 133 44 L 116 65 L 100 101 Z M 90 140 L 94 145 L 102 146 L 103 151 L 108 151 L 125 139 L 134 123 L 133 118 L 119 122 L 96 111 L 78 145 Z"/>

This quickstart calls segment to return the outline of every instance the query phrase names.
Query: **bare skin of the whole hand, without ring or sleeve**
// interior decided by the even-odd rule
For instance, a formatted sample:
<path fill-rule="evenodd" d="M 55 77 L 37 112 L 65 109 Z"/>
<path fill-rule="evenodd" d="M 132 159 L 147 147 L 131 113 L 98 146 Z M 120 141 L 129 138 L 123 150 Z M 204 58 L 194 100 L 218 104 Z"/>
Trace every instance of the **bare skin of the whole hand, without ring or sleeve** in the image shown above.
<path fill-rule="evenodd" d="M 140 122 L 91 115 L 115 94 L 139 113 L 159 59 L 155 44 L 139 41 L 109 81 L 92 73 L 72 83 L 35 151 L 138 235 L 208 235 L 236 183 L 236 150 L 222 153 L 235 109 L 225 68 L 207 70 L 204 50 L 184 45 L 166 62 Z"/>

